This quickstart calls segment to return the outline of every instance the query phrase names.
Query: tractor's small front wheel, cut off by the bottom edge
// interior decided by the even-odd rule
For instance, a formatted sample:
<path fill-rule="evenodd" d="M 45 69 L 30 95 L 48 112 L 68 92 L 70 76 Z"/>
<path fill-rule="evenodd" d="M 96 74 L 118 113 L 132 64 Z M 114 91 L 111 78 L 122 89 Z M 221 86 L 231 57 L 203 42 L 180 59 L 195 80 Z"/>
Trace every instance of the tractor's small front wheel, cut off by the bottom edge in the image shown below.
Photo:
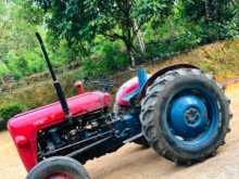
<path fill-rule="evenodd" d="M 90 179 L 77 161 L 66 156 L 54 156 L 37 164 L 26 179 Z"/>

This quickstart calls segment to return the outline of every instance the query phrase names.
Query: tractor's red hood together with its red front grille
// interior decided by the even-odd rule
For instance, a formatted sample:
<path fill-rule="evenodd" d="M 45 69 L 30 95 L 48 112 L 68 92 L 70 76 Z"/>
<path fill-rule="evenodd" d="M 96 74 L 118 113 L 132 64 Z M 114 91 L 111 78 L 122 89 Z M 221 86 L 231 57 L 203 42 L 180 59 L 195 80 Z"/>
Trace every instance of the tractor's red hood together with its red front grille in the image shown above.
<path fill-rule="evenodd" d="M 86 92 L 67 99 L 71 114 L 80 116 L 108 107 L 110 94 Z M 37 164 L 37 132 L 64 122 L 64 113 L 59 102 L 14 116 L 8 124 L 9 132 L 18 154 L 29 171 Z"/>

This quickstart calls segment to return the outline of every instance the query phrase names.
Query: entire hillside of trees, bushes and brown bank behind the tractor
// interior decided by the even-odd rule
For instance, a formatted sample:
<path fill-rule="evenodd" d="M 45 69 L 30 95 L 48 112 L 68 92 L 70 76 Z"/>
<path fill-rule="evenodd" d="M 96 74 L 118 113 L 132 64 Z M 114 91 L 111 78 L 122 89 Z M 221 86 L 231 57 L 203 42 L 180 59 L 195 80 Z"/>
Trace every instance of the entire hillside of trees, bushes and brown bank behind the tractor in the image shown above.
<path fill-rule="evenodd" d="M 191 63 L 221 81 L 239 75 L 237 0 L 2 0 L 0 29 L 0 130 L 13 115 L 56 100 L 35 31 L 68 97 L 77 79 L 121 84 L 138 66 Z"/>

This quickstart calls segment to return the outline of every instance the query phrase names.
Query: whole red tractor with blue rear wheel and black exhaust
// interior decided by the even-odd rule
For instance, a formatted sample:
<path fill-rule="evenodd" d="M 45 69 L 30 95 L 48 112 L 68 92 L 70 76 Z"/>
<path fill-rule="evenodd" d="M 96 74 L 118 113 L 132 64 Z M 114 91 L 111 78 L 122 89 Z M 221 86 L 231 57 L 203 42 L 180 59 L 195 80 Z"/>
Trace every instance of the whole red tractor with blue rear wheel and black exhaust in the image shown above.
<path fill-rule="evenodd" d="M 120 88 L 111 113 L 105 91 L 85 92 L 79 84 L 79 94 L 65 98 L 37 38 L 59 102 L 8 124 L 28 179 L 87 179 L 81 164 L 129 142 L 151 146 L 179 165 L 213 156 L 225 143 L 230 102 L 223 86 L 198 67 L 178 64 L 152 75 L 139 69 Z"/>

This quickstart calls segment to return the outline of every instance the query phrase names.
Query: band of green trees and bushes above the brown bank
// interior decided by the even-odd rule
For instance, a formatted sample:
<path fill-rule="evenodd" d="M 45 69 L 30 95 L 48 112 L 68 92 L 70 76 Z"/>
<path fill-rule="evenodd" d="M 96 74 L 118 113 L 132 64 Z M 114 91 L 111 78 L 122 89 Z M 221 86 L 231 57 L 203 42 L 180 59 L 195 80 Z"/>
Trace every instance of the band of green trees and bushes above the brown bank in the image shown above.
<path fill-rule="evenodd" d="M 239 35 L 235 0 L 51 0 L 47 13 L 42 5 L 0 1 L 0 84 L 46 71 L 37 30 L 54 67 L 77 62 L 92 76 Z"/>

